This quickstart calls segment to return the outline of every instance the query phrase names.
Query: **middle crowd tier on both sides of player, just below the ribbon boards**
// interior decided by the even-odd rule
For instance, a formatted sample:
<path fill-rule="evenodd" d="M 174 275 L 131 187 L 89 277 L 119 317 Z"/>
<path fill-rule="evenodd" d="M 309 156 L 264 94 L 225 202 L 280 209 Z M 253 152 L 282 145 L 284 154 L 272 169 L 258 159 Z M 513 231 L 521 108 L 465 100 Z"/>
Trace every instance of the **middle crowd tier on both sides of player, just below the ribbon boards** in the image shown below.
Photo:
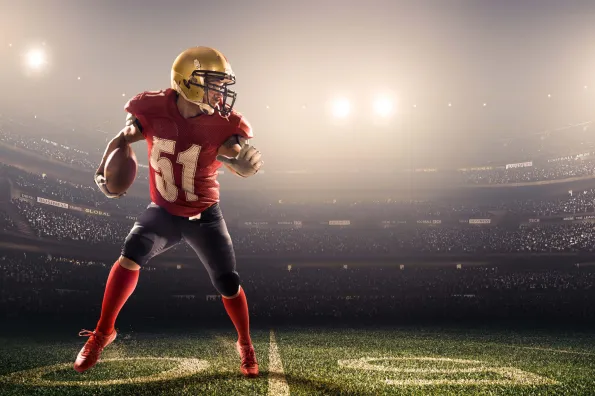
<path fill-rule="evenodd" d="M 121 245 L 133 220 L 66 212 L 13 200 L 40 237 Z M 526 227 L 241 228 L 228 225 L 238 255 L 347 257 L 426 253 L 556 253 L 595 251 L 592 223 Z M 174 251 L 190 253 L 185 244 Z"/>

